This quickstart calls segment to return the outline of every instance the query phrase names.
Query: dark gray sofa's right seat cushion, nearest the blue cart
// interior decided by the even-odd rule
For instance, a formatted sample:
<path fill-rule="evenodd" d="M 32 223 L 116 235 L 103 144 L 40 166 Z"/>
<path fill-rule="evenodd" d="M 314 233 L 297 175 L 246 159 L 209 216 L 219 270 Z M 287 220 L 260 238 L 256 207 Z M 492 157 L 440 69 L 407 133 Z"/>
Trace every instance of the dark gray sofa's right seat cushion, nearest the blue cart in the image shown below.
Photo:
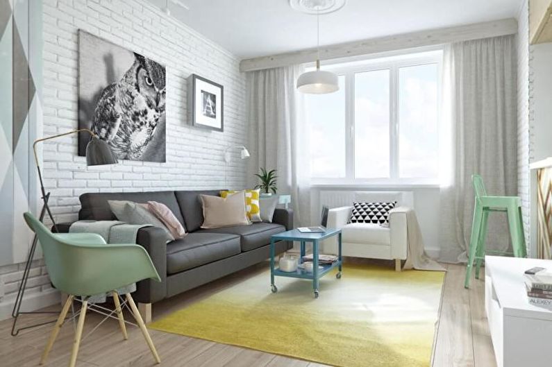
<path fill-rule="evenodd" d="M 276 223 L 253 223 L 236 227 L 199 230 L 198 233 L 231 233 L 240 236 L 242 251 L 250 251 L 270 244 L 272 234 L 285 232 L 285 227 Z"/>

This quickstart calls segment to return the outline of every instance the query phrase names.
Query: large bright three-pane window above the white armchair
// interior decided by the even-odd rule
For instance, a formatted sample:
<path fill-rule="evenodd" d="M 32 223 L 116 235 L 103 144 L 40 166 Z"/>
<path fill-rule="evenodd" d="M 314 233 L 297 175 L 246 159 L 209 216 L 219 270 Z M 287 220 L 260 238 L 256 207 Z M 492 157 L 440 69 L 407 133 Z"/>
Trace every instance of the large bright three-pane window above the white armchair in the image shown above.
<path fill-rule="evenodd" d="M 442 51 L 326 65 L 340 90 L 306 95 L 319 183 L 437 184 Z"/>

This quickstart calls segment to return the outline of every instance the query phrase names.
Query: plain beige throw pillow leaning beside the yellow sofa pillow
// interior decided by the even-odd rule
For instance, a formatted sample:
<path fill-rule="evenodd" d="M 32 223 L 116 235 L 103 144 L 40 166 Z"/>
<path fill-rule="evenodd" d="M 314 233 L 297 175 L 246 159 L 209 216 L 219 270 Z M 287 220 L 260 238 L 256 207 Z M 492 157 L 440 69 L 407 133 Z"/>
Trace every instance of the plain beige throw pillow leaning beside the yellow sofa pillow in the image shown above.
<path fill-rule="evenodd" d="M 201 228 L 222 228 L 250 224 L 245 209 L 244 191 L 229 194 L 226 198 L 200 194 L 203 206 Z"/>

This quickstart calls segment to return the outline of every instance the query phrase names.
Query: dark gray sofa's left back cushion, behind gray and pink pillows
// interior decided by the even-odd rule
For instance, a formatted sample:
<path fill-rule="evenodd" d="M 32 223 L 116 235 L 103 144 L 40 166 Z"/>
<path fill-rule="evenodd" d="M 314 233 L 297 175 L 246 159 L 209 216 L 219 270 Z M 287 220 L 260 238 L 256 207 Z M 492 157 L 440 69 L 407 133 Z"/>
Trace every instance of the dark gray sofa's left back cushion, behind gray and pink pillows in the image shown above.
<path fill-rule="evenodd" d="M 169 207 L 176 219 L 184 224 L 180 207 L 174 196 L 174 191 L 146 191 L 146 192 L 93 192 L 82 194 L 81 210 L 78 212 L 78 219 L 90 219 L 93 221 L 112 221 L 117 217 L 111 212 L 108 200 L 128 200 L 135 203 L 147 203 L 157 201 Z M 200 210 L 201 212 L 201 210 Z"/>

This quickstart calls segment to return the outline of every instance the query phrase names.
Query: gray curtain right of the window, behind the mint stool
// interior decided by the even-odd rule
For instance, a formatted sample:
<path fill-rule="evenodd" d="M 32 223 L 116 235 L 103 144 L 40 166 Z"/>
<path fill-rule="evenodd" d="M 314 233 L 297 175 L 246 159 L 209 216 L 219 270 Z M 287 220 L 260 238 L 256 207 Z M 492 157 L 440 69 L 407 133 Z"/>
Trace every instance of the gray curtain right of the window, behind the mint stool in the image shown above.
<path fill-rule="evenodd" d="M 464 262 L 474 210 L 471 175 L 492 195 L 517 195 L 515 36 L 458 42 L 444 55 L 444 121 L 449 121 L 449 178 L 441 187 L 440 259 Z M 446 149 L 445 149 L 446 150 Z M 494 213 L 493 213 L 494 214 Z M 507 250 L 503 214 L 490 215 L 487 249 Z"/>

